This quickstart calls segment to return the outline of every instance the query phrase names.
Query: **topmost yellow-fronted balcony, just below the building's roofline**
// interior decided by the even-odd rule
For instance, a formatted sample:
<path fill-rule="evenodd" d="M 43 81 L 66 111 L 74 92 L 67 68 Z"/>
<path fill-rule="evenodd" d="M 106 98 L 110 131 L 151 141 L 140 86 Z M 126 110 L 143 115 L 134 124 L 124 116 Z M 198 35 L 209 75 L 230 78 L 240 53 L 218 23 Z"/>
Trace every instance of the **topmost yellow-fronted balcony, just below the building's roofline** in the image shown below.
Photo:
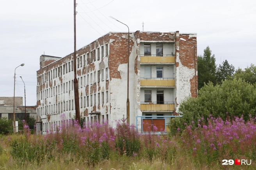
<path fill-rule="evenodd" d="M 140 55 L 140 64 L 174 64 L 175 58 L 174 54 L 167 54 L 162 56 L 156 55 Z"/>

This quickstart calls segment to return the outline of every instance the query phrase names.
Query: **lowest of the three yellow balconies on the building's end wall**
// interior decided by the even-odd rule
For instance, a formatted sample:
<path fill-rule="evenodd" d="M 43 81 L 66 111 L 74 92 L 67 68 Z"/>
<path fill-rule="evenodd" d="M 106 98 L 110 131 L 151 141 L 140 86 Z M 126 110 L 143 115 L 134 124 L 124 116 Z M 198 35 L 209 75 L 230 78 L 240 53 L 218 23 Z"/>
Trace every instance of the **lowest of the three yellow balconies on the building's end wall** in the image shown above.
<path fill-rule="evenodd" d="M 140 102 L 141 111 L 174 111 L 174 102 Z"/>

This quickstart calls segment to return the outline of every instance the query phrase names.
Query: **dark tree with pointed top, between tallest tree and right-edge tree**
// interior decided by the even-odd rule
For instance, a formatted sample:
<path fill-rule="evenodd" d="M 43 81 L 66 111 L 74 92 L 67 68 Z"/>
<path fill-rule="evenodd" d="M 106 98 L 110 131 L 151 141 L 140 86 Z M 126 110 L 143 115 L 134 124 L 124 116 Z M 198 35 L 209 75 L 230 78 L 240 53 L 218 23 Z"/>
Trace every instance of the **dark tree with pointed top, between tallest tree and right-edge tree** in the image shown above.
<path fill-rule="evenodd" d="M 222 81 L 226 80 L 227 78 L 231 78 L 231 76 L 235 72 L 235 67 L 228 63 L 227 60 L 222 62 L 222 65 L 219 64 L 216 72 L 216 81 L 218 84 L 221 84 Z"/>

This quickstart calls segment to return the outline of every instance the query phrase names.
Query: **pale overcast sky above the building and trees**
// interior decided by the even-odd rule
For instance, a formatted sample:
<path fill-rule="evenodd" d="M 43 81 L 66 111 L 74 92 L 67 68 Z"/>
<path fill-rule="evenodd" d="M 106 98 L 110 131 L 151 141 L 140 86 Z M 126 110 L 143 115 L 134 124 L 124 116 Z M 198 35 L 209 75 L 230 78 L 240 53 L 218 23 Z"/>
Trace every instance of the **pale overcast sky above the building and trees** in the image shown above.
<path fill-rule="evenodd" d="M 197 33 L 197 54 L 209 45 L 216 64 L 235 68 L 256 64 L 256 0 L 77 0 L 77 49 L 109 31 Z M 73 52 L 73 0 L 0 2 L 0 96 L 24 98 L 36 105 L 36 71 L 42 54 Z"/>

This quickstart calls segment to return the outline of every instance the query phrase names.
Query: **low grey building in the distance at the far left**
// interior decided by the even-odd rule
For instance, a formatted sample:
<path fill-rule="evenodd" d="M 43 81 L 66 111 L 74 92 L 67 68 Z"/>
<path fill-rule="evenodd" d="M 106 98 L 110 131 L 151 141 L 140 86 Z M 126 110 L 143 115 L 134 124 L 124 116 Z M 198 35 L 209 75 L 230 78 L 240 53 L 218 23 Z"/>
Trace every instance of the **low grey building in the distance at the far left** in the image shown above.
<path fill-rule="evenodd" d="M 27 117 L 36 119 L 36 106 L 26 106 Z M 13 97 L 0 97 L 0 118 L 13 119 Z M 23 97 L 15 97 L 15 118 L 25 119 L 25 106 Z"/>

